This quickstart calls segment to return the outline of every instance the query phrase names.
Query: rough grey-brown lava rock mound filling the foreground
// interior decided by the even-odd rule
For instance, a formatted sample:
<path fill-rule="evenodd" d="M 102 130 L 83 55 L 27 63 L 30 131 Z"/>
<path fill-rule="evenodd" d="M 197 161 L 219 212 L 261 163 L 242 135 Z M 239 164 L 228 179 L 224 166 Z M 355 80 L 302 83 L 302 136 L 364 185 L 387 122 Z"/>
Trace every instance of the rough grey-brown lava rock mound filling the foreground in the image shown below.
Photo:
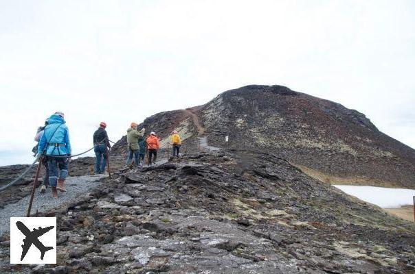
<path fill-rule="evenodd" d="M 254 151 L 118 171 L 43 212 L 58 264 L 0 273 L 414 273 L 415 225 Z"/>

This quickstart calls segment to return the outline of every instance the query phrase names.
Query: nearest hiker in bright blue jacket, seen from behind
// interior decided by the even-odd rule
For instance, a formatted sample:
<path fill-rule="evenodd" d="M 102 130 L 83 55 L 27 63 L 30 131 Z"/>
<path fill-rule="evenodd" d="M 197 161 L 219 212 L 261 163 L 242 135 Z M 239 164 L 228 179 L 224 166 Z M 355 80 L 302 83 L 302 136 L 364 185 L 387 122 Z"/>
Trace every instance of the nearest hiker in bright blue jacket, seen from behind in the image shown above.
<path fill-rule="evenodd" d="M 64 183 L 71 157 L 69 129 L 65 125 L 64 116 L 63 112 L 55 112 L 50 116 L 38 146 L 38 157 L 40 158 L 41 155 L 47 157 L 49 184 L 54 198 L 58 198 L 58 190 L 66 191 Z"/>

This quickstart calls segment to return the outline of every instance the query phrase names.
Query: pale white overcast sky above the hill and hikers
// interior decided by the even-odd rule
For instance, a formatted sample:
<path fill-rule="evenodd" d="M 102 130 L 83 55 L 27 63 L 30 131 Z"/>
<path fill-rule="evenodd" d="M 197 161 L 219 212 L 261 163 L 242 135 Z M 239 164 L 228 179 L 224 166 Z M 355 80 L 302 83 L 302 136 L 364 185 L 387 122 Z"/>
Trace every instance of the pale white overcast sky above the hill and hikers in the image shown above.
<path fill-rule="evenodd" d="M 0 0 L 0 165 L 32 162 L 65 112 L 73 153 L 100 121 L 280 84 L 363 112 L 415 147 L 415 1 Z"/>

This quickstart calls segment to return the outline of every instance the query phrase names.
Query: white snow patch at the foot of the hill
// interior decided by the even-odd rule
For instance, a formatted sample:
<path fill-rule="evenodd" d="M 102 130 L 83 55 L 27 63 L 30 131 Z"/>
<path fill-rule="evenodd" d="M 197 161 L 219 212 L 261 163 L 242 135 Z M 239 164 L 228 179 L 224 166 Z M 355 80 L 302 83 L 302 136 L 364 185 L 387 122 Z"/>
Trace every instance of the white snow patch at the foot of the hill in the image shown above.
<path fill-rule="evenodd" d="M 414 189 L 405 188 L 381 188 L 377 186 L 347 186 L 333 185 L 355 196 L 362 201 L 373 203 L 381 208 L 400 208 L 401 206 L 412 205 L 412 197 L 415 196 Z"/>

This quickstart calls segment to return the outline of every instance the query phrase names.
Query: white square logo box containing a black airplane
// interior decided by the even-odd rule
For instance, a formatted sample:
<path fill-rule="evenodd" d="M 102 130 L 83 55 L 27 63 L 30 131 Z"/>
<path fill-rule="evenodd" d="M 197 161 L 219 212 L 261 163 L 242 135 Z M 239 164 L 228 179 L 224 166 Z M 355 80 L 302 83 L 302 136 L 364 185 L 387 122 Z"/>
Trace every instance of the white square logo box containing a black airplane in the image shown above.
<path fill-rule="evenodd" d="M 10 218 L 10 264 L 56 264 L 56 217 Z"/>

